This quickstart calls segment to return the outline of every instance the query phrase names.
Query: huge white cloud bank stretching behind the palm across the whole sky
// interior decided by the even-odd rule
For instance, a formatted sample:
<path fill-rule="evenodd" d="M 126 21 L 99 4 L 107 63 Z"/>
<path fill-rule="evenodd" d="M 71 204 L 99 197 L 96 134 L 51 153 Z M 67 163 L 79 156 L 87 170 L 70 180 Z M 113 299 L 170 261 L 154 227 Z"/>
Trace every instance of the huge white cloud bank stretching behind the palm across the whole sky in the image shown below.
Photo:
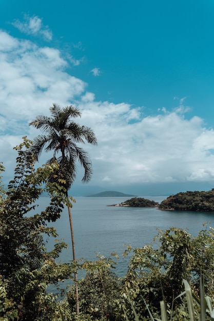
<path fill-rule="evenodd" d="M 34 27 L 35 28 L 35 27 Z M 38 28 L 38 26 L 37 26 Z M 98 147 L 85 145 L 92 159 L 91 185 L 116 185 L 214 180 L 214 131 L 203 120 L 186 119 L 181 101 L 174 110 L 145 117 L 145 107 L 96 101 L 86 84 L 71 74 L 69 61 L 51 47 L 38 47 L 0 31 L 0 148 L 12 178 L 13 147 L 22 136 L 40 134 L 28 123 L 49 115 L 52 103 L 74 104 L 82 111 L 80 124 L 91 127 Z M 46 155 L 42 161 L 45 162 Z"/>

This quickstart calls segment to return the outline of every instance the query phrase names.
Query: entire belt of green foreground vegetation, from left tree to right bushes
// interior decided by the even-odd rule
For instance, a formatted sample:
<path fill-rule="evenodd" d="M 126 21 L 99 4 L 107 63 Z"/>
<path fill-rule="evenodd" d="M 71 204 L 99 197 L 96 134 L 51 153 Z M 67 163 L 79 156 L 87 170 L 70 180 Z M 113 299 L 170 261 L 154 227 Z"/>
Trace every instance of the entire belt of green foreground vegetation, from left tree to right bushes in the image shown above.
<path fill-rule="evenodd" d="M 95 262 L 57 263 L 66 244 L 56 240 L 47 251 L 46 239 L 57 237 L 47 222 L 59 219 L 64 206 L 72 206 L 72 198 L 67 198 L 62 178 L 56 175 L 57 162 L 34 169 L 31 144 L 24 137 L 15 148 L 17 165 L 8 189 L 0 182 L 0 321 L 214 319 L 214 229 L 206 224 L 196 237 L 170 228 L 159 231 L 153 244 L 127 246 L 124 257 L 131 257 L 123 278 L 112 270 L 115 253 L 109 258 L 98 255 Z M 37 213 L 36 200 L 44 191 L 50 204 Z M 86 271 L 77 281 L 79 314 L 73 278 L 78 269 Z M 71 287 L 59 300 L 48 287 L 64 279 Z"/>

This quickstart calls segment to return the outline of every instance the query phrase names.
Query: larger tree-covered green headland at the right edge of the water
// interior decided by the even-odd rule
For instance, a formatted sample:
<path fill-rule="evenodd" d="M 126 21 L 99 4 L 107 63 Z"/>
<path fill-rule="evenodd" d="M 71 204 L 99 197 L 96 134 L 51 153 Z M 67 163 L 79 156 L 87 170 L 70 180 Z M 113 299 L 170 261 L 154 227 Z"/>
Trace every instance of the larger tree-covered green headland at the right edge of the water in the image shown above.
<path fill-rule="evenodd" d="M 214 212 L 214 189 L 208 192 L 187 191 L 171 195 L 161 202 L 159 209 Z"/>

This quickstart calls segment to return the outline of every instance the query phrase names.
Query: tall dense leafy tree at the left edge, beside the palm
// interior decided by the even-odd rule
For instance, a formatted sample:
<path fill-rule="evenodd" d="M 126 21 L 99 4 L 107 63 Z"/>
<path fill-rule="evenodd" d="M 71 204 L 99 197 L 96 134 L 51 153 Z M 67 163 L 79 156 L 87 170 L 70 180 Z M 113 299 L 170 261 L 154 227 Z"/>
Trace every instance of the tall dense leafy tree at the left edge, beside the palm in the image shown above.
<path fill-rule="evenodd" d="M 60 217 L 67 199 L 60 182 L 50 183 L 48 178 L 59 165 L 55 162 L 34 169 L 31 142 L 16 146 L 18 156 L 14 179 L 8 190 L 0 192 L 0 320 L 55 320 L 59 315 L 59 302 L 47 293 L 48 285 L 72 278 L 74 265 L 55 259 L 67 245 L 56 242 L 52 251 L 46 250 L 50 236 L 56 237 L 54 228 L 47 222 Z M 4 168 L 1 167 L 1 171 Z M 43 185 L 44 188 L 42 187 Z M 36 200 L 43 191 L 50 196 L 50 205 L 41 214 L 36 212 Z M 45 237 L 46 235 L 46 237 Z"/>

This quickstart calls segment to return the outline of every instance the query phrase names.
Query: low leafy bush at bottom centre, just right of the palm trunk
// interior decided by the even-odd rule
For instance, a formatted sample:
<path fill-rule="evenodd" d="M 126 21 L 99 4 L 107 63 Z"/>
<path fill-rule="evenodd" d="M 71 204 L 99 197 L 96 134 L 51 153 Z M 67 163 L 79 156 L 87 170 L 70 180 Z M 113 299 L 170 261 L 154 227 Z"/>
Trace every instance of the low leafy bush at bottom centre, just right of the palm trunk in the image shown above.
<path fill-rule="evenodd" d="M 111 258 L 98 255 L 95 262 L 85 262 L 86 276 L 80 280 L 79 299 L 80 311 L 91 320 L 120 321 L 121 311 L 118 302 L 121 297 L 122 285 L 119 278 L 111 271 L 114 262 Z M 75 289 L 67 293 L 67 302 L 75 311 Z"/>

